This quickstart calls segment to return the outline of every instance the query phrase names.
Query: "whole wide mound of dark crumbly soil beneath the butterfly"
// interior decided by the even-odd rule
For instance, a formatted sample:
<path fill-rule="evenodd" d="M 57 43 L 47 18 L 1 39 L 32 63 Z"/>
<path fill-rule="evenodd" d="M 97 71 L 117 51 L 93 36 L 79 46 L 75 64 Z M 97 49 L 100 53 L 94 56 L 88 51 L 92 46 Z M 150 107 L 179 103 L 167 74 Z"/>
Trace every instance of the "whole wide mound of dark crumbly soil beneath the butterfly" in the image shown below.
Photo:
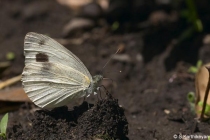
<path fill-rule="evenodd" d="M 8 139 L 128 139 L 128 122 L 117 99 L 110 94 L 95 105 L 83 102 L 68 111 L 66 106 L 51 111 L 39 110 L 31 118 L 31 127 L 13 125 Z"/>

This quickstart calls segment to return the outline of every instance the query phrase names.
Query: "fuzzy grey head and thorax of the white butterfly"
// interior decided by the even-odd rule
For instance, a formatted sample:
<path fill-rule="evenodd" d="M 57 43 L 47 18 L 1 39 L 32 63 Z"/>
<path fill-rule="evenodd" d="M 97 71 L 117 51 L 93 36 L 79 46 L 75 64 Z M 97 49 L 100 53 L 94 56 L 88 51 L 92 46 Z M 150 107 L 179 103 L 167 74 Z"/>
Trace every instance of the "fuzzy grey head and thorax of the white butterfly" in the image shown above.
<path fill-rule="evenodd" d="M 102 75 L 95 75 L 95 76 L 93 76 L 93 80 L 90 83 L 90 86 L 88 87 L 87 92 L 89 94 L 95 92 L 97 90 L 97 88 L 98 88 L 98 84 L 101 82 L 102 79 L 103 79 Z"/>

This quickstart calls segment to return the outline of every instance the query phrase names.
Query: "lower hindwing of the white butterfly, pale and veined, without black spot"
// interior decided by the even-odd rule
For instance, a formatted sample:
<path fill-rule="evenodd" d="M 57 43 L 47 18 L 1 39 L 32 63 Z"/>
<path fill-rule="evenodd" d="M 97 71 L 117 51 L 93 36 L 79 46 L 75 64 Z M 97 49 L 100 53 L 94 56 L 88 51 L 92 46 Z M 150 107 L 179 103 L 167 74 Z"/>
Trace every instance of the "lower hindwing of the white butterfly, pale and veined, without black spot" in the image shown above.
<path fill-rule="evenodd" d="M 83 73 L 49 62 L 27 63 L 22 74 L 28 97 L 39 107 L 62 106 L 74 98 L 85 96 L 90 79 Z"/>

